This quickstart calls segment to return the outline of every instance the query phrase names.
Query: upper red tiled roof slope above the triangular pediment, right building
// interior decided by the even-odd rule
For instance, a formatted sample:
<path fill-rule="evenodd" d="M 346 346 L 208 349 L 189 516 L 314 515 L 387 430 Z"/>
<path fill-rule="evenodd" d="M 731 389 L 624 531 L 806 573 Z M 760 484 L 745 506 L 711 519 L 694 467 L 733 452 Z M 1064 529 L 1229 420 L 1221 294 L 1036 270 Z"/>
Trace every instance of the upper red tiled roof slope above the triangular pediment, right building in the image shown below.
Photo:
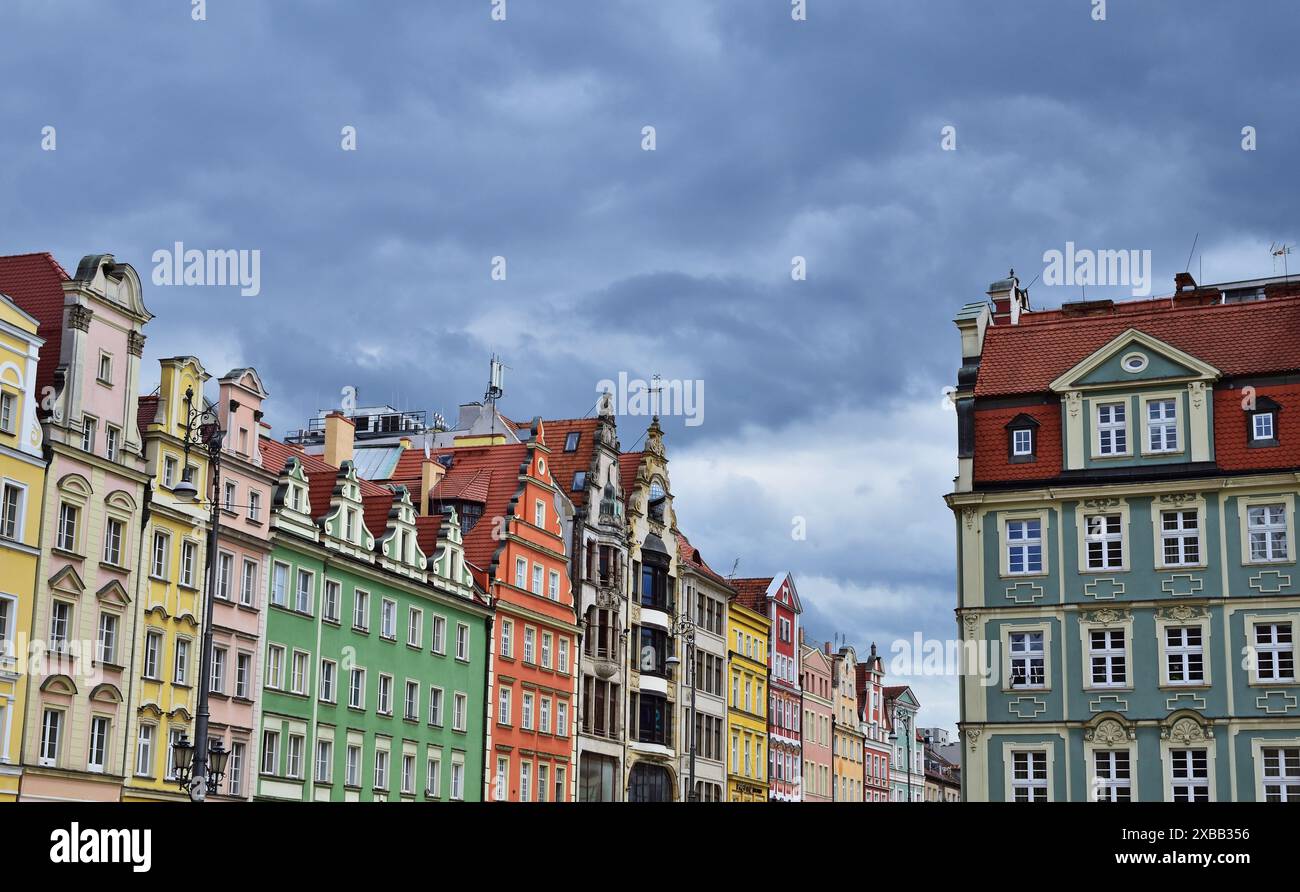
<path fill-rule="evenodd" d="M 1041 393 L 1093 351 L 1138 329 L 1226 376 L 1300 371 L 1300 296 L 1176 307 L 1171 298 L 1115 304 L 1098 316 L 1027 313 L 984 334 L 976 397 Z"/>

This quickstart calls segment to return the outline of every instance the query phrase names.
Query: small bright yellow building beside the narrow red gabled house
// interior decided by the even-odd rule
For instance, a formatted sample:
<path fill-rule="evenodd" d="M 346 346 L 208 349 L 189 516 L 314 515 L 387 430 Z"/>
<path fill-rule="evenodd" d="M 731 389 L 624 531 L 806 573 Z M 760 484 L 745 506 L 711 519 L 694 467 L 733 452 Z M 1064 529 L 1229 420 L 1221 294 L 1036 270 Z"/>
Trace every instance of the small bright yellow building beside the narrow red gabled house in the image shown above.
<path fill-rule="evenodd" d="M 727 606 L 727 801 L 767 801 L 767 641 L 771 620 Z"/>

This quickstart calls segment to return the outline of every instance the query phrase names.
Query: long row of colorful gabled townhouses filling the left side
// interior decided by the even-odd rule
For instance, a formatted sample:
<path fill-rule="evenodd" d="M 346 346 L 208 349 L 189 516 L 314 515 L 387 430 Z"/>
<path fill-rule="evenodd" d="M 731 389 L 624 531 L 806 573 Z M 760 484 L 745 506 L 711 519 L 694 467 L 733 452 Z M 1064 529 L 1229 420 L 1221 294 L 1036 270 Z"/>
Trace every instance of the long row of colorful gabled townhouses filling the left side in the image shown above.
<path fill-rule="evenodd" d="M 254 368 L 138 395 L 112 255 L 0 257 L 0 800 L 186 798 L 204 688 L 217 800 L 898 798 L 911 692 L 805 646 L 789 573 L 708 567 L 658 419 L 624 453 L 611 399 L 519 423 L 494 387 L 276 439 Z"/>

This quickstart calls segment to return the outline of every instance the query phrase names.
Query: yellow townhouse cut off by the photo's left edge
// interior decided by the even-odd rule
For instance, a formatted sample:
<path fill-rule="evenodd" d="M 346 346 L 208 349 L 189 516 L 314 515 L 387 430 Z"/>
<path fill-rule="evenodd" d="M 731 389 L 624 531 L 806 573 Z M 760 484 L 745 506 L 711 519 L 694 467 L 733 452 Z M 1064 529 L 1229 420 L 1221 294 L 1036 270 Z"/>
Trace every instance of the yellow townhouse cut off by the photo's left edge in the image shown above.
<path fill-rule="evenodd" d="M 46 485 L 35 319 L 0 294 L 0 802 L 18 798 L 31 610 Z"/>

